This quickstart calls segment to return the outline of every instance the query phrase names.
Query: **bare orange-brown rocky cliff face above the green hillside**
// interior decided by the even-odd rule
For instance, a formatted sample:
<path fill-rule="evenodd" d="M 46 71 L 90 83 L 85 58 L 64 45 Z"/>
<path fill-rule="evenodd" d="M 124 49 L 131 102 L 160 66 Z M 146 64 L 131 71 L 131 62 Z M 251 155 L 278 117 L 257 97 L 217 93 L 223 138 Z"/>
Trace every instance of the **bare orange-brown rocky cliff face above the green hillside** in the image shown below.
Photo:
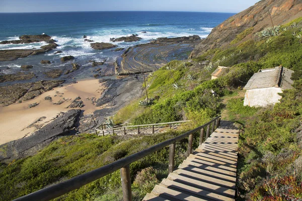
<path fill-rule="evenodd" d="M 301 11 L 302 0 L 262 0 L 215 27 L 211 34 L 195 47 L 189 58 L 197 57 L 208 49 L 229 45 L 238 34 L 254 27 L 241 42 L 251 39 L 255 37 L 255 33 L 271 27 L 272 22 L 277 26 L 302 17 Z"/>

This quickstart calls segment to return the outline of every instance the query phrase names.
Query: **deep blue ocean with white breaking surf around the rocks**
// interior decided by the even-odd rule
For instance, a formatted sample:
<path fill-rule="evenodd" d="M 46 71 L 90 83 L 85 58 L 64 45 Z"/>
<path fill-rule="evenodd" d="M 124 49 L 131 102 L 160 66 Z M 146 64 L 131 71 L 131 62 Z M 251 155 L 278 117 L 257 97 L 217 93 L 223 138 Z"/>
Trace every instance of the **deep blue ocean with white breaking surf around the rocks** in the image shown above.
<path fill-rule="evenodd" d="M 47 34 L 59 45 L 46 54 L 30 56 L 14 61 L 0 62 L 2 73 L 12 73 L 10 68 L 30 64 L 41 66 L 43 60 L 54 61 L 52 67 L 60 67 L 63 56 L 72 55 L 76 62 L 84 64 L 89 59 L 114 62 L 121 52 L 93 50 L 83 36 L 95 42 L 110 42 L 110 38 L 138 34 L 137 42 L 116 42 L 128 48 L 160 37 L 180 37 L 198 35 L 205 38 L 211 30 L 233 16 L 231 13 L 198 12 L 63 12 L 63 13 L 0 13 L 0 41 L 18 40 L 19 36 Z M 146 33 L 141 33 L 146 32 Z M 4 49 L 40 48 L 45 43 L 1 45 Z M 63 53 L 53 55 L 55 51 Z M 85 65 L 85 64 L 84 64 Z"/>

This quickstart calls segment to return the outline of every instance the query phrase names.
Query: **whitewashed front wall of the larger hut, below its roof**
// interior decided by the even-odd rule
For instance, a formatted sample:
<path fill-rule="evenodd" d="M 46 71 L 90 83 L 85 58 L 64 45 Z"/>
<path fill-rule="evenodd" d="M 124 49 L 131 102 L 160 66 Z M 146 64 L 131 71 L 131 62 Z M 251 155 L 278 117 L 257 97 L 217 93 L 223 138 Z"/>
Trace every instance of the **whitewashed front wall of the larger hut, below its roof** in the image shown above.
<path fill-rule="evenodd" d="M 278 93 L 282 93 L 282 89 L 278 87 L 248 89 L 244 98 L 244 106 L 261 106 L 275 104 L 281 98 Z"/>

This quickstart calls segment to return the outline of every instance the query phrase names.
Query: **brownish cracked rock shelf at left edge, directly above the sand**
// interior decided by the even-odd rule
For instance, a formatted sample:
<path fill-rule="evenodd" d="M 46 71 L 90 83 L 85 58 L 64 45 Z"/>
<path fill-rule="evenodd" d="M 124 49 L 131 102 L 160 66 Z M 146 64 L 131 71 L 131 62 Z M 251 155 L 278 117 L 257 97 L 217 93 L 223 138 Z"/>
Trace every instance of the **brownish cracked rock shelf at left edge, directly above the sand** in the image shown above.
<path fill-rule="evenodd" d="M 62 84 L 64 80 L 49 80 L 0 86 L 0 104 L 9 106 L 17 100 L 29 100 Z"/>

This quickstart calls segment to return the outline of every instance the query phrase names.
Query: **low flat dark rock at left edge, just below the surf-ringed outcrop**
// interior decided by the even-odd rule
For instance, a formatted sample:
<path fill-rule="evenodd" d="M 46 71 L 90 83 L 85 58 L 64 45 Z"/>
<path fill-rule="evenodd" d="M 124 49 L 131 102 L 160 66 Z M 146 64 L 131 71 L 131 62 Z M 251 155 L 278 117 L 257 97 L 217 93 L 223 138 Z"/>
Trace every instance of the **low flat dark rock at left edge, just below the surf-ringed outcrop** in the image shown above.
<path fill-rule="evenodd" d="M 0 61 L 12 61 L 18 58 L 30 55 L 44 54 L 50 49 L 34 49 L 34 50 L 0 50 Z"/>

